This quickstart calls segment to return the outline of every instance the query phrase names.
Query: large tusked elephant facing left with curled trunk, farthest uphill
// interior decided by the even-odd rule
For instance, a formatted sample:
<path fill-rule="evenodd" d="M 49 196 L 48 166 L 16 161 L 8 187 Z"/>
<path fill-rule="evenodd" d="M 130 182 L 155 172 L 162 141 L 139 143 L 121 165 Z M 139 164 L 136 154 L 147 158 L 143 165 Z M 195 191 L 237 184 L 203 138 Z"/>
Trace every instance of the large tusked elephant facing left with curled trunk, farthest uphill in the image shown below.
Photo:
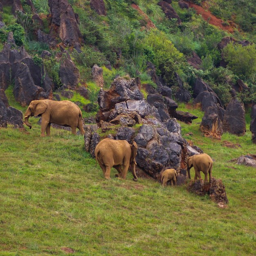
<path fill-rule="evenodd" d="M 29 117 L 41 116 L 41 136 L 50 135 L 51 123 L 71 127 L 72 134 L 76 134 L 76 127 L 81 134 L 83 129 L 83 117 L 80 108 L 71 101 L 52 101 L 49 99 L 31 101 L 25 112 L 25 124 L 31 129 Z"/>

